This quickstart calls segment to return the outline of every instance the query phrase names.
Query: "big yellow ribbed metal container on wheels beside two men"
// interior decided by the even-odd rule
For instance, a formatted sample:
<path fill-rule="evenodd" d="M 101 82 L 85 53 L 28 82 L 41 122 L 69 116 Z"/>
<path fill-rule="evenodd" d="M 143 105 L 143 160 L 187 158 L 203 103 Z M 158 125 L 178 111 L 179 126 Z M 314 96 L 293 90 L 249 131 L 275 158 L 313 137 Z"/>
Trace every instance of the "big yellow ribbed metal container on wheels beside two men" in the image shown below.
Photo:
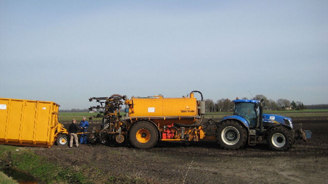
<path fill-rule="evenodd" d="M 0 98 L 0 144 L 51 147 L 56 140 L 67 144 L 58 107 L 51 101 Z"/>

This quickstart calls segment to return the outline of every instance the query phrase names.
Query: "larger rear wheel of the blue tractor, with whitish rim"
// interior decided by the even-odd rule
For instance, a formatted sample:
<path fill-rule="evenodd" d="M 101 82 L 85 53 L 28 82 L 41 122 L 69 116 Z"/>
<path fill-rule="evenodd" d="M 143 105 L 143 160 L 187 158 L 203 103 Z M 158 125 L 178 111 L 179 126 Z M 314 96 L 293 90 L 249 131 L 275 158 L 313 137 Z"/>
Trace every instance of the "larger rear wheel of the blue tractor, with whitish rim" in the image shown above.
<path fill-rule="evenodd" d="M 217 127 L 215 137 L 221 148 L 237 150 L 245 146 L 247 131 L 237 121 L 227 120 Z"/>

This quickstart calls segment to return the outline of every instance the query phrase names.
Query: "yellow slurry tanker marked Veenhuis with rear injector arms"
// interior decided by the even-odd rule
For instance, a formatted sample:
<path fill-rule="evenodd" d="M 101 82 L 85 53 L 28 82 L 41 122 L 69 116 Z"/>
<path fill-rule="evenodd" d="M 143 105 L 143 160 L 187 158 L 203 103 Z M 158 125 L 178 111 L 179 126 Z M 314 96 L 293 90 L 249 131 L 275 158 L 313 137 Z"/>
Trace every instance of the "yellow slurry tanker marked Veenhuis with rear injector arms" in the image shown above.
<path fill-rule="evenodd" d="M 205 114 L 205 101 L 197 101 L 192 91 L 189 97 L 164 98 L 162 95 L 132 97 L 114 94 L 111 97 L 92 97 L 101 106 L 89 109 L 103 109 L 95 116 L 103 118 L 101 130 L 91 134 L 91 140 L 104 143 L 115 140 L 122 143 L 126 138 L 136 148 L 153 147 L 158 140 L 179 141 L 205 138 L 200 122 Z M 104 104 L 104 105 L 103 105 Z M 119 114 L 125 104 L 125 116 Z"/>

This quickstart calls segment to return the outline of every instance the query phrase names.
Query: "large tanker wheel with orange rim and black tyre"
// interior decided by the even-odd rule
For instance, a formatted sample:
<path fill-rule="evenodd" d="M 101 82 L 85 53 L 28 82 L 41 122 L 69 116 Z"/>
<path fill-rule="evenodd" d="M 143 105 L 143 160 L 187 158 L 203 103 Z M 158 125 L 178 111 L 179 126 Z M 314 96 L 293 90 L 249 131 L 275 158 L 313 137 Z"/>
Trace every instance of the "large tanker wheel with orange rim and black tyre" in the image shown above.
<path fill-rule="evenodd" d="M 139 121 L 134 124 L 129 132 L 131 144 L 139 149 L 149 149 L 158 140 L 158 133 L 153 124 L 148 121 Z"/>

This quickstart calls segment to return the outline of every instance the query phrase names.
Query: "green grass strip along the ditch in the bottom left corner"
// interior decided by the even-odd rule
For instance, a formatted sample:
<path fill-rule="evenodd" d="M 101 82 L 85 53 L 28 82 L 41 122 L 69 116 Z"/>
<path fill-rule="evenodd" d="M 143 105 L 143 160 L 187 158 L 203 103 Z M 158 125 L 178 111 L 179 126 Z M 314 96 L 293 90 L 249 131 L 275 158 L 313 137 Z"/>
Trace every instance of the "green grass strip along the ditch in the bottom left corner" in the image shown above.
<path fill-rule="evenodd" d="M 10 163 L 12 169 L 17 170 L 24 175 L 31 175 L 38 181 L 45 183 L 91 184 L 95 182 L 98 183 L 99 181 L 108 184 L 154 183 L 154 181 L 140 176 L 108 175 L 99 169 L 88 166 L 83 166 L 83 168 L 86 167 L 84 169 L 76 168 L 79 171 L 74 171 L 70 168 L 62 167 L 57 163 L 53 163 L 45 157 L 38 156 L 24 147 L 0 145 L 0 161 L 3 165 Z M 3 177 L 2 174 L 4 175 Z M 90 178 L 86 178 L 87 175 Z M 17 182 L 0 172 L 0 183 L 11 184 Z"/>

